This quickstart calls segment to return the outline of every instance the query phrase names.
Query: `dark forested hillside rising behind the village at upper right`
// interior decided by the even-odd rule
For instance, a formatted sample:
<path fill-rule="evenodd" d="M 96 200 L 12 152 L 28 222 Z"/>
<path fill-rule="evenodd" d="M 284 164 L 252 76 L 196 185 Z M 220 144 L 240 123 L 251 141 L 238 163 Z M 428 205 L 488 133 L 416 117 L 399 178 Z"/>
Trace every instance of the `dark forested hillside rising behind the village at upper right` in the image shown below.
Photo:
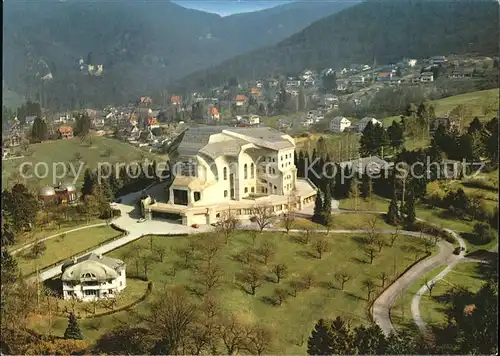
<path fill-rule="evenodd" d="M 473 0 L 368 0 L 290 38 L 183 78 L 176 88 L 231 77 L 293 73 L 349 63 L 390 63 L 450 53 L 498 55 L 498 3 Z"/>

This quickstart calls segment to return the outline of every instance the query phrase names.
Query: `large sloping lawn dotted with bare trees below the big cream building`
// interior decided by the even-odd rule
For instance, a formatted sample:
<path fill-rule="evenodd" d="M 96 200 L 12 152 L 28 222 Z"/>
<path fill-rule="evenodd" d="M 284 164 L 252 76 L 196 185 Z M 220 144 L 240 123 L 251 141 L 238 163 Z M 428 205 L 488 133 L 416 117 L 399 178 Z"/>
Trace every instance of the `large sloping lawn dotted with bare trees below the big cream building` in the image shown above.
<path fill-rule="evenodd" d="M 223 283 L 219 287 L 217 295 L 221 305 L 227 311 L 237 313 L 243 320 L 267 324 L 277 332 L 276 352 L 285 354 L 302 354 L 305 352 L 307 337 L 309 336 L 314 322 L 321 317 L 335 317 L 337 315 L 348 316 L 354 323 L 367 323 L 368 314 L 366 291 L 362 287 L 362 281 L 373 279 L 380 291 L 380 280 L 377 275 L 381 272 L 387 273 L 392 278 L 401 273 L 409 264 L 414 262 L 415 253 L 410 251 L 410 246 L 423 250 L 418 240 L 401 237 L 396 240 L 393 247 L 385 246 L 382 252 L 369 264 L 367 256 L 360 246 L 359 238 L 353 235 L 331 234 L 327 237 L 330 242 L 331 252 L 326 253 L 322 259 L 315 256 L 312 242 L 304 245 L 296 241 L 296 236 L 284 233 L 264 232 L 256 239 L 256 246 L 263 241 L 271 241 L 277 246 L 276 256 L 265 266 L 260 256 L 254 256 L 254 263 L 265 274 L 265 280 L 257 289 L 256 295 L 248 294 L 243 285 L 240 284 L 238 274 L 242 271 L 243 263 L 235 259 L 235 255 L 246 248 L 252 247 L 251 233 L 240 231 L 230 238 L 229 244 L 222 245 L 217 261 L 223 267 Z M 197 274 L 192 268 L 179 267 L 183 259 L 177 255 L 179 248 L 187 247 L 190 240 L 197 237 L 168 238 L 162 236 L 153 237 L 153 245 L 162 246 L 167 255 L 163 263 L 155 262 L 150 265 L 148 275 L 155 286 L 164 283 L 169 285 L 184 285 L 191 288 L 199 286 Z M 201 235 L 201 239 L 211 239 L 214 235 Z M 319 234 L 315 238 L 325 238 L 325 234 Z M 387 239 L 387 237 L 384 237 Z M 110 253 L 111 257 L 121 258 L 127 263 L 127 274 L 133 275 L 135 261 L 132 259 L 134 251 L 138 249 L 149 249 L 150 238 L 145 237 L 131 243 L 123 248 Z M 196 261 L 193 261 L 196 263 Z M 285 263 L 288 266 L 288 276 L 280 283 L 281 287 L 290 288 L 290 282 L 301 279 L 308 272 L 314 275 L 314 284 L 310 289 L 299 291 L 296 297 L 290 296 L 281 306 L 272 303 L 273 291 L 278 286 L 275 283 L 271 266 L 275 263 Z M 175 268 L 175 274 L 173 273 Z M 345 290 L 339 289 L 334 275 L 337 272 L 348 272 L 352 278 L 346 283 Z M 142 274 L 142 265 L 139 274 Z M 388 283 L 386 281 L 386 283 Z M 331 284 L 331 285 L 329 285 Z M 195 299 L 199 298 L 193 295 Z M 201 300 L 201 299 L 199 299 Z M 144 306 L 138 306 L 141 310 Z M 90 339 L 104 333 L 117 320 L 126 320 L 126 315 L 118 313 L 109 317 L 98 318 L 100 326 L 98 330 L 92 329 L 87 321 L 80 323 L 85 335 Z M 129 321 L 130 322 L 130 321 Z M 64 322 L 64 327 L 65 327 Z M 61 327 L 61 330 L 62 327 Z"/>

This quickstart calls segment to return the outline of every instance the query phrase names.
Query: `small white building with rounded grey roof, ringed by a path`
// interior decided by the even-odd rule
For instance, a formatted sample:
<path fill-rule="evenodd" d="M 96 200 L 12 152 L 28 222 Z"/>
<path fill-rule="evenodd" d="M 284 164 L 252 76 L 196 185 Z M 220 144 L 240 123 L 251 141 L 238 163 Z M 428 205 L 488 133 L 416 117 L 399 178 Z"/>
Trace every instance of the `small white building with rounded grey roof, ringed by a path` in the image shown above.
<path fill-rule="evenodd" d="M 90 253 L 64 263 L 61 282 L 64 299 L 114 298 L 127 286 L 125 263 Z"/>

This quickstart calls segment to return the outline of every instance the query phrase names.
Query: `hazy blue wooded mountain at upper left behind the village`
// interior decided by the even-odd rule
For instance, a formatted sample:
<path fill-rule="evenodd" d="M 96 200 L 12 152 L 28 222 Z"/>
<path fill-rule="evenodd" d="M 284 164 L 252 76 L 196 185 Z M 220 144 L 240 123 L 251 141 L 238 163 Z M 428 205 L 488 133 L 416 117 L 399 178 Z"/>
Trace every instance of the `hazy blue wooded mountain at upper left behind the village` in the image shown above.
<path fill-rule="evenodd" d="M 129 101 L 195 70 L 277 43 L 353 3 L 285 4 L 221 17 L 164 1 L 4 2 L 5 82 L 25 94 L 44 82 L 47 104 L 78 107 Z M 279 8 L 279 9 L 278 9 Z M 103 64 L 82 76 L 80 58 Z"/>

